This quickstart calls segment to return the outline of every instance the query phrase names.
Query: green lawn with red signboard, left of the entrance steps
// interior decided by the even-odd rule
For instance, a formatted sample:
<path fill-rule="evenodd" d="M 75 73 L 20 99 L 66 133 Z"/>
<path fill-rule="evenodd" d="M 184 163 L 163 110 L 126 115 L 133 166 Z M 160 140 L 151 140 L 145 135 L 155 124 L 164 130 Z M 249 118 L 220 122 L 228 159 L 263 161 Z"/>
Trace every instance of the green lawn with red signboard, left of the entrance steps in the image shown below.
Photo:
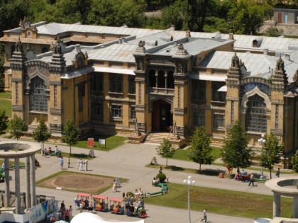
<path fill-rule="evenodd" d="M 94 138 L 94 147 L 88 147 L 88 138 Z M 104 145 L 99 145 L 99 139 L 106 139 L 106 148 Z M 96 149 L 96 150 L 103 150 L 103 151 L 110 151 L 116 147 L 121 146 L 124 144 L 124 141 L 127 140 L 127 137 L 119 137 L 116 135 L 108 136 L 108 135 L 94 135 L 92 137 L 85 137 L 82 140 L 79 140 L 75 147 L 84 148 L 84 149 Z"/>

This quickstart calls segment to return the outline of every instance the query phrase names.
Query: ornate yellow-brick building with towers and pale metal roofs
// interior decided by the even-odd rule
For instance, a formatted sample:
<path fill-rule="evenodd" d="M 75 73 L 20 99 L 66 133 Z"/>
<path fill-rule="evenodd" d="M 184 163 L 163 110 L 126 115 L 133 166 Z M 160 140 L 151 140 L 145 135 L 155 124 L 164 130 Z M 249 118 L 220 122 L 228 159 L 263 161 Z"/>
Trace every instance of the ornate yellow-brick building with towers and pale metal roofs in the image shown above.
<path fill-rule="evenodd" d="M 182 140 L 204 125 L 223 142 L 239 120 L 250 144 L 273 132 L 286 154 L 298 147 L 298 40 L 26 19 L 0 40 L 29 131 L 43 114 L 57 136 L 71 117 L 82 131 L 126 135 L 174 125 Z"/>

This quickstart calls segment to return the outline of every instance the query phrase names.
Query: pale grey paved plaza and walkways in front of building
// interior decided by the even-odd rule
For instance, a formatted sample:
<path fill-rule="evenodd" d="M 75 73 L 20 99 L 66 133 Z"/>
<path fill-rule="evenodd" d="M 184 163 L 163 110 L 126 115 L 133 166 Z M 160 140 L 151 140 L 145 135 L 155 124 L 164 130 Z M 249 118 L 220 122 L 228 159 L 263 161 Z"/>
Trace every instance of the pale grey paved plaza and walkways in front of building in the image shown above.
<path fill-rule="evenodd" d="M 11 139 L 0 139 L 1 142 L 16 142 Z M 52 147 L 53 145 L 45 144 L 45 147 Z M 58 146 L 61 151 L 69 152 L 70 147 L 68 146 Z M 123 192 L 134 191 L 136 188 L 142 188 L 143 192 L 154 192 L 155 187 L 151 185 L 153 177 L 158 173 L 158 169 L 155 168 L 146 168 L 147 164 L 150 164 L 150 161 L 153 156 L 157 157 L 158 164 L 165 165 L 165 159 L 160 158 L 156 154 L 155 150 L 156 145 L 154 144 L 123 144 L 121 147 L 112 149 L 111 151 L 98 151 L 94 150 L 96 156 L 95 159 L 89 160 L 89 171 L 87 173 L 99 174 L 104 176 L 114 176 L 121 178 L 128 178 L 126 183 L 121 184 L 121 188 L 118 188 L 118 193 L 113 193 L 112 189 L 106 190 L 101 195 L 106 195 L 109 198 L 122 198 Z M 72 147 L 72 153 L 74 154 L 88 154 L 87 149 L 81 149 Z M 53 173 L 61 171 L 60 169 L 60 159 L 55 156 L 50 158 L 45 158 L 41 154 L 36 154 L 35 158 L 40 162 L 41 167 L 37 168 L 35 171 L 36 181 L 46 176 L 50 176 Z M 24 160 L 20 160 L 24 162 Z M 64 159 L 64 170 L 69 171 L 79 171 L 77 170 L 77 159 L 71 159 L 70 168 L 67 168 L 67 159 Z M 174 159 L 168 159 L 168 165 L 175 165 L 184 168 L 199 168 L 199 164 L 195 164 L 189 161 L 178 161 Z M 205 166 L 202 165 L 202 169 L 221 169 L 226 171 L 224 166 Z M 187 179 L 187 176 L 192 176 L 192 179 L 196 181 L 197 186 L 204 186 L 210 188 L 221 188 L 227 190 L 238 190 L 248 193 L 260 193 L 265 195 L 272 195 L 271 190 L 269 190 L 265 183 L 255 183 L 255 187 L 248 187 L 247 183 L 241 183 L 238 181 L 232 181 L 228 178 L 218 178 L 216 176 L 205 176 L 200 174 L 189 174 L 181 173 L 177 171 L 167 171 L 163 170 L 166 176 L 169 176 L 169 181 L 172 183 L 182 183 L 184 179 Z M 250 173 L 250 171 L 248 171 Z M 254 173 L 260 173 L 260 171 L 253 171 Z M 267 178 L 269 178 L 268 172 L 264 172 Z M 14 191 L 14 177 L 11 173 L 11 190 Z M 25 170 L 21 169 L 21 192 L 26 190 L 26 178 Z M 282 176 L 282 174 L 281 174 Z M 289 176 L 287 174 L 287 176 Z M 297 176 L 297 174 L 295 174 Z M 275 175 L 273 174 L 275 178 Z M 77 179 L 79 181 L 79 179 Z M 4 190 L 4 183 L 0 183 L 1 190 Z M 84 188 L 82 188 L 84 190 Z M 48 188 L 36 187 L 37 195 L 48 195 L 55 196 L 55 200 L 64 200 L 66 207 L 72 205 L 74 206 L 74 200 L 76 197 L 75 192 L 64 191 L 64 190 L 54 190 Z M 208 208 L 208 207 L 206 207 Z M 171 222 L 171 223 L 180 223 L 188 222 L 188 211 L 182 209 L 175 209 L 170 207 L 163 207 L 157 205 L 147 205 L 145 204 L 145 209 L 148 213 L 148 217 L 145 219 L 145 222 Z M 202 210 L 203 211 L 203 210 Z M 78 210 L 73 211 L 73 215 L 77 215 Z M 111 213 L 95 212 L 94 215 L 100 215 L 104 219 L 115 219 L 115 220 L 138 220 L 133 217 L 126 217 L 123 215 L 111 215 Z M 201 222 L 202 212 L 192 211 L 192 222 Z M 208 213 L 209 222 L 253 222 L 253 219 L 243 218 L 243 217 L 231 217 L 226 215 L 216 215 Z"/>

